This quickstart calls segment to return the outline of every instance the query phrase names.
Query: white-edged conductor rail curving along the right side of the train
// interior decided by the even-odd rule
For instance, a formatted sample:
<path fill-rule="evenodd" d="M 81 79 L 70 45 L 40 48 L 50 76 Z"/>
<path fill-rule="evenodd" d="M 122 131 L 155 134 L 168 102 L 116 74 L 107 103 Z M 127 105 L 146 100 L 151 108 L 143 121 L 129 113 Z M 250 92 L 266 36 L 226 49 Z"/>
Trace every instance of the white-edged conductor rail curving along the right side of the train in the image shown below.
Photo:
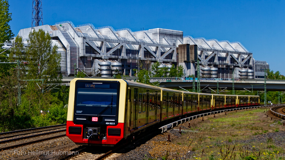
<path fill-rule="evenodd" d="M 281 106 L 281 105 L 284 105 L 284 104 L 276 104 L 276 105 L 272 105 L 272 106 Z M 251 107 L 243 107 L 243 108 L 230 108 L 230 109 L 225 109 L 225 110 L 217 110 L 217 111 L 213 111 L 213 112 L 197 114 L 197 115 L 194 115 L 194 116 L 183 118 L 181 120 L 177 120 L 175 122 L 171 122 L 169 124 L 166 124 L 166 125 L 160 127 L 159 129 L 161 129 L 161 133 L 163 133 L 163 132 L 166 132 L 168 130 L 168 128 L 173 128 L 173 127 L 177 126 L 178 124 L 182 124 L 182 123 L 184 123 L 186 121 L 190 121 L 190 120 L 193 120 L 195 118 L 200 118 L 200 117 L 208 116 L 208 115 L 211 115 L 211 114 L 218 114 L 218 113 L 222 113 L 222 112 L 229 112 L 229 111 L 243 110 L 243 109 L 251 109 L 251 108 L 261 108 L 261 107 L 268 107 L 268 105 L 267 106 L 251 106 Z"/>

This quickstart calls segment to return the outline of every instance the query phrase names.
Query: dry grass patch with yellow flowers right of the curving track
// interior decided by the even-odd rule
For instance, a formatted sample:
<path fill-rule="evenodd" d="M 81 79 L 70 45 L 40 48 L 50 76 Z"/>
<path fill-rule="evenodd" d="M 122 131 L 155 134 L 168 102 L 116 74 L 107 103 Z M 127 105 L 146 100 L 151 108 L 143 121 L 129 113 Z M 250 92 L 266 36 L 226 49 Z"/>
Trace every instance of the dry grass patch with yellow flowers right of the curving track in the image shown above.
<path fill-rule="evenodd" d="M 172 143 L 187 146 L 189 151 L 194 151 L 194 159 L 285 159 L 282 157 L 285 154 L 284 148 L 276 146 L 274 140 L 261 142 L 253 138 L 285 130 L 279 123 L 269 126 L 273 122 L 264 116 L 264 110 L 233 111 L 216 118 L 204 117 L 204 121 L 192 124 L 189 128 L 199 129 L 198 133 L 186 132 Z M 283 139 L 285 141 L 284 137 Z"/>

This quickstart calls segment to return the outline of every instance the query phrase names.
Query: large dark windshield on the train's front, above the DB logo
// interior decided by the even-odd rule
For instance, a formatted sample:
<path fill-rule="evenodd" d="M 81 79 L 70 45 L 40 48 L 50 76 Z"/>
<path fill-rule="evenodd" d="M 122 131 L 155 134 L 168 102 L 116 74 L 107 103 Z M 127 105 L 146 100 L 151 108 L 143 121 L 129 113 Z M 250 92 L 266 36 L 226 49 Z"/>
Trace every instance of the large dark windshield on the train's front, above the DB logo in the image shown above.
<path fill-rule="evenodd" d="M 116 116 L 118 82 L 77 82 L 75 114 Z"/>

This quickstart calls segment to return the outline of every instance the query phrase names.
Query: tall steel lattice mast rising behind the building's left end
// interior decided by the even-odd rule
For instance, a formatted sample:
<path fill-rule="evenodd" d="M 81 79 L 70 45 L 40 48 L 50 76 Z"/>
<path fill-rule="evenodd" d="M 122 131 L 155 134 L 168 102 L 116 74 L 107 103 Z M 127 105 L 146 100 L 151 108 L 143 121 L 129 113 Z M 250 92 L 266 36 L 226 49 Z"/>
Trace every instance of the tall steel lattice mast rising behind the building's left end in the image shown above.
<path fill-rule="evenodd" d="M 43 24 L 44 22 L 42 21 L 42 0 L 33 0 L 32 28 Z"/>

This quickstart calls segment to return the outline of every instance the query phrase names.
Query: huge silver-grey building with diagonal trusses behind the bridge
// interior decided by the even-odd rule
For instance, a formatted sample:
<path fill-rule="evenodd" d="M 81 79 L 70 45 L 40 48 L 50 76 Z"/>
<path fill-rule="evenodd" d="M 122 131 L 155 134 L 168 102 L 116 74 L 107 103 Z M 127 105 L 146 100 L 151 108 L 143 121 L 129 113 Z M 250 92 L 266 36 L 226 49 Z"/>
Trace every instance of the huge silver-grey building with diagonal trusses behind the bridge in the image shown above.
<path fill-rule="evenodd" d="M 150 69 L 156 61 L 167 66 L 182 65 L 186 77 L 197 75 L 197 61 L 202 77 L 231 78 L 235 68 L 255 67 L 252 52 L 239 42 L 192 38 L 178 30 L 155 28 L 132 32 L 129 28 L 114 30 L 111 26 L 95 28 L 93 24 L 75 27 L 70 21 L 36 26 L 34 30 L 40 28 L 58 46 L 65 76 L 74 75 L 75 67 L 87 75 L 101 72 L 102 77 L 111 77 L 116 68 L 124 75 L 134 76 L 133 69 L 138 66 Z M 32 28 L 21 29 L 18 35 L 25 42 L 31 31 Z"/>

